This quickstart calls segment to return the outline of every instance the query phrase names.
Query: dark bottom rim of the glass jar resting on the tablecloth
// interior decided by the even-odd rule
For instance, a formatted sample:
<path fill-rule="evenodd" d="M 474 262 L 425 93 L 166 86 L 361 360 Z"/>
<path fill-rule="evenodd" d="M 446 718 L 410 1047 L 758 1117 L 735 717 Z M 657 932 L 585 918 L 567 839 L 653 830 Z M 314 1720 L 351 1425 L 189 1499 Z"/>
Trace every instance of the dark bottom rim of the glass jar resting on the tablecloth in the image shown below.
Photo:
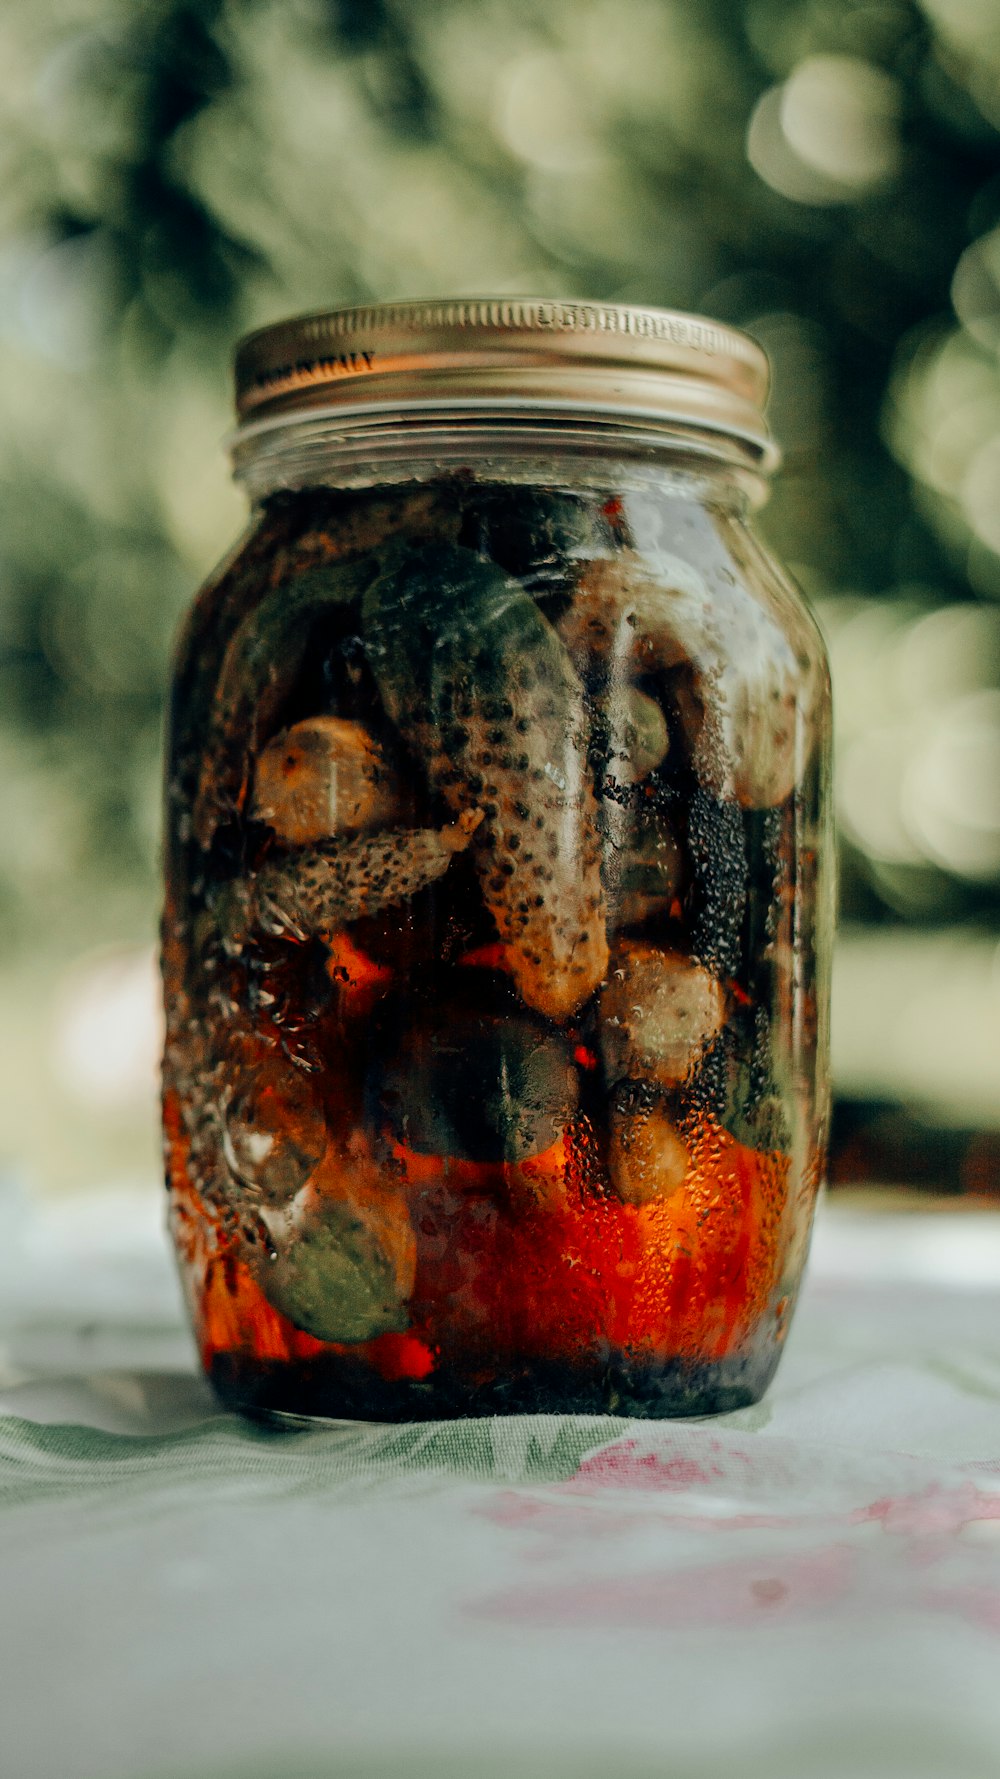
<path fill-rule="evenodd" d="M 276 1429 L 324 1421 L 448 1421 L 480 1414 L 609 1414 L 626 1420 L 690 1420 L 731 1414 L 760 1402 L 781 1348 L 689 1364 L 680 1359 L 600 1368 L 525 1364 L 502 1377 L 386 1381 L 359 1361 L 336 1357 L 258 1361 L 217 1354 L 210 1382 L 226 1409 Z"/>

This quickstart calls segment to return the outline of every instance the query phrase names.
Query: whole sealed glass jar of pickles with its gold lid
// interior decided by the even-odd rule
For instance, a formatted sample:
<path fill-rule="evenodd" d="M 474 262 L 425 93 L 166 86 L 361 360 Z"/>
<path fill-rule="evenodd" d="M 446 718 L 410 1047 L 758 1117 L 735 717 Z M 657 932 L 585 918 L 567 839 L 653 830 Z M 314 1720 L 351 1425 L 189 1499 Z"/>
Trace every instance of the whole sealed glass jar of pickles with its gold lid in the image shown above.
<path fill-rule="evenodd" d="M 767 363 L 404 304 L 237 358 L 180 644 L 171 1220 L 258 1414 L 756 1400 L 827 1123 L 829 685 L 749 527 Z"/>

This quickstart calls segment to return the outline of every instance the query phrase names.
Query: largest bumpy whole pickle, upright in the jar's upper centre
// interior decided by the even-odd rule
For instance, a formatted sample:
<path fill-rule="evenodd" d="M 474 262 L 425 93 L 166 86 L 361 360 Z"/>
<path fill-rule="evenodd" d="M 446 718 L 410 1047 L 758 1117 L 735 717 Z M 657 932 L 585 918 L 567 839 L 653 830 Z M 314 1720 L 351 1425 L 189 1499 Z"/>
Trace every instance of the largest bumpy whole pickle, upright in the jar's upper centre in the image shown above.
<path fill-rule="evenodd" d="M 393 550 L 363 635 L 384 706 L 456 809 L 521 998 L 569 1018 L 607 970 L 580 676 L 520 582 L 472 550 Z"/>

